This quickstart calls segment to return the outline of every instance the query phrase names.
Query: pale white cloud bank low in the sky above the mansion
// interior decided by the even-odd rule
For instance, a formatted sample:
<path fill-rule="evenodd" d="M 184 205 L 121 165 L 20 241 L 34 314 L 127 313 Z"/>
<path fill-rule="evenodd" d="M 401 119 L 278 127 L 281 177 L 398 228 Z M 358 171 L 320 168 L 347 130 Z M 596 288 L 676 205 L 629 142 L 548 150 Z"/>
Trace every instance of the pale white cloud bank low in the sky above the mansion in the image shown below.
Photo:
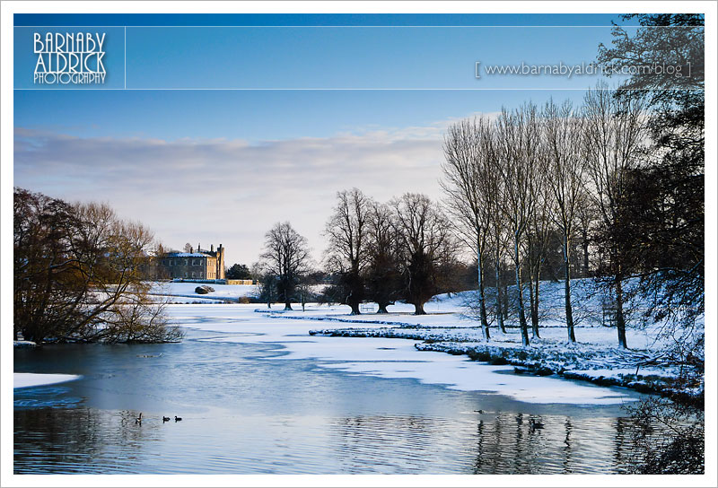
<path fill-rule="evenodd" d="M 338 190 L 359 187 L 382 201 L 407 191 L 441 196 L 446 125 L 260 144 L 16 128 L 14 184 L 71 201 L 106 201 L 174 247 L 221 242 L 228 264 L 250 264 L 269 227 L 288 220 L 320 257 Z"/>

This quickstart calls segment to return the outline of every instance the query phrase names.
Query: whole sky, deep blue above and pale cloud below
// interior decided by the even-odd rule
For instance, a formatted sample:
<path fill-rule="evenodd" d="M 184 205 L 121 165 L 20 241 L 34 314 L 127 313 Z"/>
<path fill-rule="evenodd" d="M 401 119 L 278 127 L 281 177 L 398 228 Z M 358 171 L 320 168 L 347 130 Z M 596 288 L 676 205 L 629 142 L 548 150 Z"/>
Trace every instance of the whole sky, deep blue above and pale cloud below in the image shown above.
<path fill-rule="evenodd" d="M 580 103 L 596 81 L 477 79 L 477 62 L 590 63 L 611 21 L 16 15 L 13 183 L 107 202 L 171 248 L 221 243 L 227 266 L 256 261 L 289 221 L 319 264 L 337 191 L 440 199 L 447 126 L 528 100 Z M 101 89 L 32 83 L 32 34 L 70 30 L 106 32 Z"/>

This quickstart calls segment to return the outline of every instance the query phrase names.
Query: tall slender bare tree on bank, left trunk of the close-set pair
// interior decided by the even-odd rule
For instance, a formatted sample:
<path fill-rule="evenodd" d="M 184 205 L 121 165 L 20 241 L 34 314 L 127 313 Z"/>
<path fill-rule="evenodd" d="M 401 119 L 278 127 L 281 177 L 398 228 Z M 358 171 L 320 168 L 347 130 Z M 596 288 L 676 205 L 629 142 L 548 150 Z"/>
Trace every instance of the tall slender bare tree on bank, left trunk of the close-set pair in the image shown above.
<path fill-rule="evenodd" d="M 536 205 L 534 181 L 538 175 L 539 130 L 536 106 L 526 104 L 509 112 L 502 110 L 498 119 L 500 158 L 496 170 L 503 177 L 503 213 L 512 232 L 521 341 L 529 344 L 529 329 L 523 303 L 522 246 Z"/>

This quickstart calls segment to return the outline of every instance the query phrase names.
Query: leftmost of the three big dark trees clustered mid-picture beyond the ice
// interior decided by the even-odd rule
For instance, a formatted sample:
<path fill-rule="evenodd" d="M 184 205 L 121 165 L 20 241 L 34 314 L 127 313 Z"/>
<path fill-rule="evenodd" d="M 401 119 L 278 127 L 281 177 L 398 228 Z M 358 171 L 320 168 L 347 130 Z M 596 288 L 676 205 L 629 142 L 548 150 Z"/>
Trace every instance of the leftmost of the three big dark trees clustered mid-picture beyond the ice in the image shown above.
<path fill-rule="evenodd" d="M 337 192 L 337 206 L 325 228 L 327 263 L 339 277 L 342 302 L 360 313 L 364 299 L 363 270 L 368 262 L 369 199 L 358 188 Z"/>

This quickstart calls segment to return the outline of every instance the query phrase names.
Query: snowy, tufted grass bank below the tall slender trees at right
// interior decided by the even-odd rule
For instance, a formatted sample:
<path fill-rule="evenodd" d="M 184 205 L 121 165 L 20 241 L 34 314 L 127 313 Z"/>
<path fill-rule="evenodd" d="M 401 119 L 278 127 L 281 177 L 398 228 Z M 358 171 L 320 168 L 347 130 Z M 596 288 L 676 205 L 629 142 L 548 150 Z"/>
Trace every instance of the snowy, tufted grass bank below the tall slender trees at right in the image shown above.
<path fill-rule="evenodd" d="M 544 327 L 541 329 L 544 338 L 533 338 L 529 346 L 521 344 L 518 328 L 508 328 L 506 334 L 496 332 L 497 337 L 488 341 L 480 338 L 478 327 L 402 325 L 327 328 L 311 330 L 309 333 L 422 341 L 415 344 L 416 350 L 467 355 L 478 362 L 512 365 L 521 374 L 557 375 L 565 379 L 590 381 L 600 386 L 631 388 L 641 393 L 665 396 L 685 394 L 674 388 L 679 376 L 677 367 L 651 364 L 659 354 L 653 348 L 622 349 L 609 346 L 606 340 L 609 335 L 615 335 L 615 331 L 608 327 L 581 327 L 577 334 L 589 340 L 578 343 L 569 343 L 557 337 L 565 335 L 563 327 Z"/>

